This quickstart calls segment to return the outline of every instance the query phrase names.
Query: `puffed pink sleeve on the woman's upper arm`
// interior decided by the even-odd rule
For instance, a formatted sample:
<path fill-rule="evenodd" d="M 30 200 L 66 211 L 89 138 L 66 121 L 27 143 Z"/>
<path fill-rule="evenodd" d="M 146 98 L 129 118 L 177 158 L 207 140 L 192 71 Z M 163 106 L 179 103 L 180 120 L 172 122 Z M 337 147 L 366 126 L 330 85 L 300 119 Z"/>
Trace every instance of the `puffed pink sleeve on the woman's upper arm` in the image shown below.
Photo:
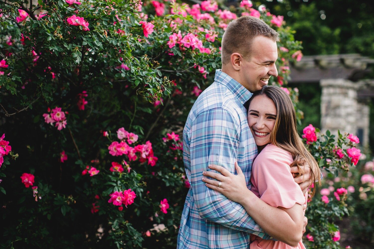
<path fill-rule="evenodd" d="M 274 146 L 275 147 L 275 146 Z M 303 205 L 305 196 L 291 174 L 291 155 L 278 147 L 265 148 L 254 161 L 252 174 L 260 199 L 274 207 Z"/>

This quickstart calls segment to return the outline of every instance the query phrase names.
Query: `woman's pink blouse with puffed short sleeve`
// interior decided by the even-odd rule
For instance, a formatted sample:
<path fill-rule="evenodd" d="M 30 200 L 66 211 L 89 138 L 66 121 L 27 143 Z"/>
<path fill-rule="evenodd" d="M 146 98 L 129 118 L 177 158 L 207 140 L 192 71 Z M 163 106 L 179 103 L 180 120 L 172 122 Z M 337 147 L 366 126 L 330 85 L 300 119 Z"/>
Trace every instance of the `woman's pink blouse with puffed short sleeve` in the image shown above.
<path fill-rule="evenodd" d="M 257 156 L 252 166 L 252 192 L 274 207 L 292 208 L 296 203 L 307 203 L 308 194 L 301 191 L 291 174 L 294 160 L 289 152 L 268 144 Z M 292 247 L 286 243 L 264 240 L 251 235 L 251 249 L 305 249 L 303 242 Z"/>

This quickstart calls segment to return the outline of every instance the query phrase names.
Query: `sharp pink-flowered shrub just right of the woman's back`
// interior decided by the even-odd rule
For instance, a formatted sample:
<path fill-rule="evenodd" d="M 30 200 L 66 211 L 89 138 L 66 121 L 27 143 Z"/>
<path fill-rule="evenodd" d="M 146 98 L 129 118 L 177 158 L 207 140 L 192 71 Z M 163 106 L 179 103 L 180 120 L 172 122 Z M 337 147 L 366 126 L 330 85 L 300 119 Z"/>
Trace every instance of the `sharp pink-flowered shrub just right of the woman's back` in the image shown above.
<path fill-rule="evenodd" d="M 359 143 L 356 136 L 341 134 L 339 131 L 338 136 L 335 136 L 328 130 L 326 134 L 321 134 L 312 125 L 304 128 L 303 133 L 304 142 L 325 177 L 338 179 L 339 172 L 347 174 L 351 168 L 355 168 L 361 156 L 360 150 L 355 147 Z M 308 248 L 339 248 L 340 231 L 335 220 L 348 215 L 348 189 L 352 191 L 352 186 L 347 189 L 341 186 L 336 190 L 332 186 L 322 188 L 320 195 L 316 195 L 309 203 L 306 210 Z"/>

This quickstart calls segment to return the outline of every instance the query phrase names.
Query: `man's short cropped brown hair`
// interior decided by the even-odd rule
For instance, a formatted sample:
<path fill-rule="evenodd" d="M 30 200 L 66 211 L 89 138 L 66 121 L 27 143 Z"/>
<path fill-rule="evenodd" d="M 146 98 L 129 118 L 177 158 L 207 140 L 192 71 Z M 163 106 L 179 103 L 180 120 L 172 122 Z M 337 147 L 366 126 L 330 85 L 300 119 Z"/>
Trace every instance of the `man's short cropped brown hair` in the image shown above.
<path fill-rule="evenodd" d="M 233 53 L 240 53 L 248 60 L 252 41 L 258 35 L 279 41 L 279 34 L 258 18 L 242 16 L 230 22 L 221 42 L 222 65 L 230 62 Z"/>

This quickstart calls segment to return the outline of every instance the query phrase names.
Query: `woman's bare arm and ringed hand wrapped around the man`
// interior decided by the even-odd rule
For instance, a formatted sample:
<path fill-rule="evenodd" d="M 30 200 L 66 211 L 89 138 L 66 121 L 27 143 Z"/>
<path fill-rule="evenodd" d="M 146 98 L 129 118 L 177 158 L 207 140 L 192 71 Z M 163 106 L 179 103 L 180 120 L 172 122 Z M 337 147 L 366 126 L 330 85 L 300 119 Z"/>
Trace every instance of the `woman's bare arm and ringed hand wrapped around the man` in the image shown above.
<path fill-rule="evenodd" d="M 295 204 L 292 208 L 275 208 L 270 206 L 246 186 L 245 177 L 240 167 L 235 163 L 237 175 L 231 174 L 227 169 L 218 165 L 209 165 L 221 174 L 204 171 L 203 178 L 206 186 L 222 193 L 224 196 L 240 203 L 248 214 L 270 236 L 290 246 L 296 246 L 303 235 L 303 206 Z M 221 181 L 221 187 L 218 183 Z"/>

